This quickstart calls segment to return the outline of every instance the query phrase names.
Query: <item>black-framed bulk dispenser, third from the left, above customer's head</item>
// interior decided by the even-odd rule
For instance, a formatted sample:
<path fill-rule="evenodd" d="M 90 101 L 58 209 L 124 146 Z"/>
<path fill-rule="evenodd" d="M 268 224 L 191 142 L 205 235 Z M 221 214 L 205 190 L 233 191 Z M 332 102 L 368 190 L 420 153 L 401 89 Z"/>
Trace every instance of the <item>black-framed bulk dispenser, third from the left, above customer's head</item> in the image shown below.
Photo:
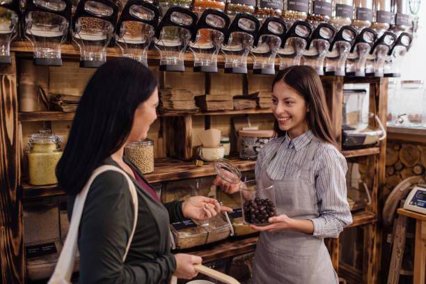
<path fill-rule="evenodd" d="M 80 49 L 80 67 L 98 68 L 107 61 L 118 6 L 109 0 L 81 0 L 72 18 L 73 40 Z"/>

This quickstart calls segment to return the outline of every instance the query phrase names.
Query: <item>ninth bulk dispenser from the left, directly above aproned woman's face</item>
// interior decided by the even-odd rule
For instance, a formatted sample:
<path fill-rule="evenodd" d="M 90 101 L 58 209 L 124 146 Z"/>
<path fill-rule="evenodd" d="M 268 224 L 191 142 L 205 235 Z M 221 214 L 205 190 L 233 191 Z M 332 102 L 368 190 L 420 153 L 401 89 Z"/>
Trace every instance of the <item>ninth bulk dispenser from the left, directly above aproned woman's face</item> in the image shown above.
<path fill-rule="evenodd" d="M 280 70 L 287 67 L 300 65 L 303 53 L 308 45 L 312 25 L 308 22 L 296 21 L 285 34 L 281 48 L 278 49 Z"/>

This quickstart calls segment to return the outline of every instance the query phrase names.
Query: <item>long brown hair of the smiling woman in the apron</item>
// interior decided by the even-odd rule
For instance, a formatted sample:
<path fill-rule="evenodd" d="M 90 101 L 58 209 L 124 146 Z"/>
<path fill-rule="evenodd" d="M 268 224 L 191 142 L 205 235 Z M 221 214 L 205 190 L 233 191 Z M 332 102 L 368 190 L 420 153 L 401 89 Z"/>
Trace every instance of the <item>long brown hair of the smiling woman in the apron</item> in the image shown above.
<path fill-rule="evenodd" d="M 313 134 L 322 141 L 336 145 L 324 88 L 315 69 L 303 65 L 285 68 L 276 75 L 272 88 L 281 81 L 296 90 L 305 99 L 309 109 L 306 113 L 306 122 Z M 285 135 L 285 131 L 278 127 L 276 120 L 274 130 L 278 137 Z"/>

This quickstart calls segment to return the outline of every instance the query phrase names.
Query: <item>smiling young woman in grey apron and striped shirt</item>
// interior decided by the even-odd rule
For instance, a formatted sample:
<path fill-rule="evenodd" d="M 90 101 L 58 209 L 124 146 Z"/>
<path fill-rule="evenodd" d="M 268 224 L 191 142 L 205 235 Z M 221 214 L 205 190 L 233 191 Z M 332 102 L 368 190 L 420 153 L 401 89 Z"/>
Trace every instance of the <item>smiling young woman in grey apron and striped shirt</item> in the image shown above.
<path fill-rule="evenodd" d="M 277 215 L 261 232 L 255 284 L 338 283 L 325 237 L 352 223 L 347 203 L 347 164 L 336 148 L 321 79 L 313 68 L 293 66 L 276 76 L 271 109 L 276 139 L 258 155 L 258 187 L 274 186 Z M 238 187 L 216 178 L 224 191 Z"/>

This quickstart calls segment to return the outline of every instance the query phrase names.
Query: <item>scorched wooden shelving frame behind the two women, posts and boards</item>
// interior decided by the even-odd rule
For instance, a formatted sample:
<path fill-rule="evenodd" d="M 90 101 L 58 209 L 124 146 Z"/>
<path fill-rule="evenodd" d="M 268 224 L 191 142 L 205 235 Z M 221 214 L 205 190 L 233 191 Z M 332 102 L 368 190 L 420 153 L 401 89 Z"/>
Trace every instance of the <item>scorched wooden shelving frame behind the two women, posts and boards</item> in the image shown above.
<path fill-rule="evenodd" d="M 29 42 L 14 42 L 11 50 L 12 65 L 0 65 L 0 76 L 3 80 L 3 88 L 0 94 L 0 112 L 2 113 L 0 119 L 0 224 L 4 230 L 0 231 L 0 241 L 3 246 L 0 247 L 0 255 L 2 262 L 2 272 L 6 273 L 7 278 L 3 278 L 3 283 L 24 283 L 25 282 L 25 259 L 24 259 L 24 226 L 22 222 L 22 202 L 31 201 L 35 198 L 45 198 L 51 196 L 60 196 L 64 192 L 57 189 L 56 185 L 49 185 L 46 187 L 35 187 L 22 181 L 22 125 L 28 122 L 43 122 L 46 125 L 58 121 L 71 121 L 74 118 L 74 113 L 62 113 L 58 111 L 37 111 L 33 113 L 18 112 L 17 108 L 17 58 L 31 58 L 33 56 L 33 48 Z M 78 61 L 79 49 L 74 45 L 62 45 L 61 47 L 64 61 Z M 108 57 L 120 57 L 121 52 L 118 48 L 108 48 Z M 223 67 L 223 58 L 218 58 L 219 68 Z M 180 73 L 169 77 L 168 72 L 159 72 L 156 65 L 159 63 L 159 54 L 150 51 L 148 53 L 148 63 L 152 68 L 156 68 L 159 74 L 159 81 L 161 87 L 164 83 L 171 79 L 175 80 L 175 84 L 182 84 L 179 80 L 184 77 L 194 77 L 191 68 L 187 68 L 187 73 Z M 194 63 L 190 54 L 185 55 L 185 65 L 191 66 Z M 253 64 L 251 58 L 248 58 L 248 66 Z M 188 74 L 191 73 L 191 74 Z M 181 76 L 181 77 L 179 77 Z M 219 80 L 219 83 L 207 84 L 206 82 L 200 83 L 198 81 L 185 81 L 189 82 L 187 88 L 196 88 L 207 93 L 207 88 L 223 88 L 226 84 L 239 84 L 235 83 L 234 78 L 223 79 L 228 74 L 213 74 L 208 77 Z M 241 93 L 246 95 L 251 92 L 248 84 L 255 84 L 256 86 L 263 86 L 248 78 L 251 75 L 240 75 L 244 86 L 239 86 Z M 191 78 L 192 78 L 191 77 Z M 214 78 L 213 78 L 214 77 Z M 223 80 L 223 82 L 221 81 Z M 226 81 L 228 80 L 228 81 Z M 178 82 L 178 83 L 177 83 Z M 342 77 L 322 77 L 324 88 L 326 89 L 326 100 L 329 103 L 331 110 L 331 118 L 333 127 L 337 134 L 336 138 L 338 143 L 341 142 L 341 118 L 342 118 L 342 88 L 345 82 L 367 82 L 370 83 L 370 108 L 371 111 L 379 113 L 379 118 L 383 123 L 386 123 L 386 86 L 387 79 L 347 79 Z M 200 87 L 200 85 L 203 85 Z M 187 85 L 185 85 L 187 86 Z M 192 114 L 174 115 L 166 113 L 159 115 L 161 121 L 161 145 L 163 156 L 168 158 L 157 159 L 155 163 L 155 172 L 146 175 L 149 182 L 166 182 L 173 180 L 182 180 L 187 178 L 198 178 L 203 176 L 214 175 L 214 168 L 212 164 L 206 164 L 203 167 L 196 167 L 190 160 L 192 156 L 191 148 L 193 146 L 192 133 L 194 124 L 203 121 L 205 127 L 210 127 L 212 120 L 220 118 L 221 116 L 242 116 L 242 115 L 257 115 L 257 114 L 271 114 L 269 109 L 250 109 L 244 111 L 200 111 Z M 204 118 L 202 118 L 204 117 Z M 266 116 L 265 116 L 266 117 Z M 263 117 L 262 117 L 263 118 Z M 164 127 L 167 125 L 169 127 Z M 172 137 L 173 141 L 168 140 L 167 137 Z M 353 214 L 354 223 L 350 227 L 364 226 L 365 228 L 365 251 L 363 258 L 366 262 L 366 267 L 360 272 L 363 275 L 359 278 L 358 274 L 352 274 L 354 279 L 363 279 L 367 283 L 377 283 L 377 273 L 379 271 L 378 263 L 380 258 L 379 246 L 377 246 L 381 235 L 377 228 L 377 219 L 379 214 L 378 200 L 379 200 L 379 187 L 384 180 L 384 157 L 385 157 L 386 142 L 380 143 L 374 148 L 342 151 L 342 155 L 347 158 L 369 157 L 372 161 L 371 168 L 374 168 L 374 181 L 372 182 L 372 205 L 363 212 Z M 166 153 L 166 154 L 165 154 Z M 179 159 L 172 159 L 170 157 L 178 157 Z M 239 167 L 241 171 L 252 171 L 255 166 L 255 161 L 246 161 L 241 159 L 232 159 L 232 162 Z M 8 216 L 5 219 L 4 216 Z M 10 220 L 13 220 L 11 223 Z M 206 262 L 218 260 L 221 258 L 228 258 L 234 255 L 240 255 L 254 251 L 255 244 L 258 237 L 248 237 L 245 239 L 228 239 L 218 244 L 205 246 L 198 250 L 193 250 L 191 253 L 200 255 Z M 338 239 L 327 240 L 329 248 L 331 248 L 331 258 L 336 270 L 339 269 L 339 242 Z M 13 248 L 13 249 L 11 249 Z M 341 272 L 345 274 L 348 269 L 345 265 L 342 266 Z M 0 281 L 1 282 L 1 281 Z"/>

